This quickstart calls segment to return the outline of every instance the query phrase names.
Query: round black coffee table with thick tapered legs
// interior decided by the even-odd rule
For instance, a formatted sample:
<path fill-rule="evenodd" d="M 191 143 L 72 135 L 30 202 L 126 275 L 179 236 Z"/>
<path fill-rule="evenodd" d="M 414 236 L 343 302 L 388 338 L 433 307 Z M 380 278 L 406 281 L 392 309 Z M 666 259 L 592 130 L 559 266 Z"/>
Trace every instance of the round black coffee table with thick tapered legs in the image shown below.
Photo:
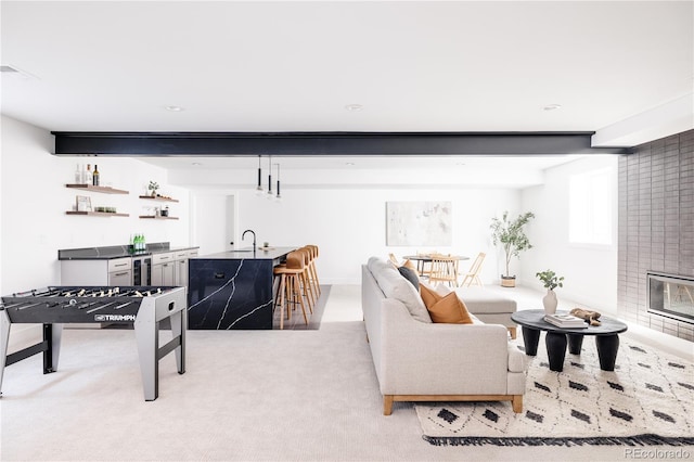
<path fill-rule="evenodd" d="M 525 354 L 528 356 L 537 355 L 540 332 L 547 332 L 544 343 L 550 360 L 550 370 L 556 372 L 564 370 L 566 344 L 568 343 L 568 350 L 571 355 L 580 355 L 586 335 L 595 336 L 600 369 L 614 371 L 619 349 L 618 334 L 627 331 L 627 324 L 604 316 L 600 318 L 601 325 L 593 326 L 586 323 L 587 328 L 558 328 L 544 321 L 544 310 L 541 309 L 516 311 L 511 315 L 511 320 L 523 328 L 523 343 L 525 344 Z"/>

